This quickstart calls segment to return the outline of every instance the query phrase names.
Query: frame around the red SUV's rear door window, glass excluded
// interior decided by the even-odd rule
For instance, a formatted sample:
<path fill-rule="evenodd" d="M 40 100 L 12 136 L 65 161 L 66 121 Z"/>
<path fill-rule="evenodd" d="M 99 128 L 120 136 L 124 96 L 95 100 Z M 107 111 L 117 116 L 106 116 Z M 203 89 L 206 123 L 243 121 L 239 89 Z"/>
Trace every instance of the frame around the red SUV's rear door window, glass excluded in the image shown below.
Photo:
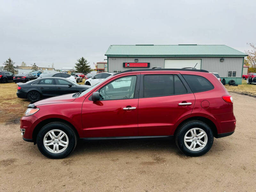
<path fill-rule="evenodd" d="M 190 89 L 190 87 L 188 86 L 187 82 L 185 81 L 185 79 L 183 78 L 183 76 L 181 74 L 177 74 L 177 73 L 155 73 L 155 74 L 141 74 L 140 75 L 140 94 L 139 94 L 139 98 L 149 98 L 149 97 L 144 97 L 144 76 L 145 75 L 177 75 L 180 78 L 181 83 L 185 86 L 185 88 L 187 89 L 187 93 L 178 93 L 178 94 L 173 94 L 173 95 L 184 95 L 184 94 L 189 94 L 192 93 L 192 90 Z M 173 82 L 174 83 L 174 82 Z M 160 95 L 160 96 L 152 96 L 152 97 L 165 97 L 165 96 L 172 96 L 172 95 Z"/>

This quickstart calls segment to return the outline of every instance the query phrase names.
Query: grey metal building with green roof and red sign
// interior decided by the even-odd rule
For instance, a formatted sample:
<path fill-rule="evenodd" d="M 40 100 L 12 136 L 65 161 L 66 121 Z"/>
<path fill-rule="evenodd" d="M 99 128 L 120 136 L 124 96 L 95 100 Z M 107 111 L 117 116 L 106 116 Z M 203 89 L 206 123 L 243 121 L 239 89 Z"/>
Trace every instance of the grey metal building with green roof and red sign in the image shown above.
<path fill-rule="evenodd" d="M 245 53 L 227 45 L 110 45 L 108 72 L 142 68 L 195 67 L 242 84 Z"/>

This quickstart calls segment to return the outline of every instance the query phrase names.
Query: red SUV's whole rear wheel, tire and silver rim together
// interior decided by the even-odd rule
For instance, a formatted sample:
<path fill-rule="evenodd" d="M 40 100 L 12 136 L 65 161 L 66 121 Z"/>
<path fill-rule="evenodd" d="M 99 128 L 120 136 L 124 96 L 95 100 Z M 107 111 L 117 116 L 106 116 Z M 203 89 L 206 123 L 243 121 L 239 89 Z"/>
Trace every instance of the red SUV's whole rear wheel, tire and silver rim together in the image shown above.
<path fill-rule="evenodd" d="M 201 156 L 211 149 L 213 134 L 207 124 L 194 120 L 178 128 L 175 141 L 178 148 L 186 155 Z"/>

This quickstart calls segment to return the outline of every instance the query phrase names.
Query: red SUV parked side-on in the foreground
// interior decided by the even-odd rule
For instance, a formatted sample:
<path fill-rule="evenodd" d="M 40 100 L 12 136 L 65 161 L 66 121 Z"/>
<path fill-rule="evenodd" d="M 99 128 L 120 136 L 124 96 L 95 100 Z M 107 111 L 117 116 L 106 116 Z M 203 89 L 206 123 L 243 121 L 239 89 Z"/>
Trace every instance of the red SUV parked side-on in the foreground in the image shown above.
<path fill-rule="evenodd" d="M 174 137 L 186 155 L 201 156 L 235 127 L 232 97 L 196 69 L 123 71 L 82 93 L 34 101 L 20 120 L 23 140 L 49 158 L 68 156 L 79 138 L 153 137 Z"/>

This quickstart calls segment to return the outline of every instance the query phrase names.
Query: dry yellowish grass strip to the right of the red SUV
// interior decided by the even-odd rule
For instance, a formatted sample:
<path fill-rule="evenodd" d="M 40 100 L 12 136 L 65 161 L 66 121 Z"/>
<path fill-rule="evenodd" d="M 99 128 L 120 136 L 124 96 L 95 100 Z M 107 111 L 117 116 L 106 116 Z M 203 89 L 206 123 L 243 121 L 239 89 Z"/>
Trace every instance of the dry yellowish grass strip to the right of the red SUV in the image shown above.
<path fill-rule="evenodd" d="M 238 86 L 229 86 L 227 84 L 225 85 L 225 88 L 228 90 L 228 92 L 236 92 L 239 94 L 251 95 L 256 97 L 256 85 L 247 84 L 246 80 L 242 80 L 242 84 Z"/>

